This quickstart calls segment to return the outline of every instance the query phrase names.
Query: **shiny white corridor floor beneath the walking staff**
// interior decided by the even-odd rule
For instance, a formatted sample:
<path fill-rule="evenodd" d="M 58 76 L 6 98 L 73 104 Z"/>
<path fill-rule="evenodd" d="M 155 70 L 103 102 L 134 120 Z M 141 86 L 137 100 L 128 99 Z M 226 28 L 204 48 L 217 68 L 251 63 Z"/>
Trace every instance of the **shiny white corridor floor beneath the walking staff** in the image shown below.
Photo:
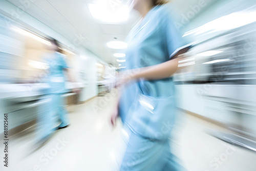
<path fill-rule="evenodd" d="M 115 102 L 115 96 L 109 94 L 85 104 L 69 106 L 71 126 L 56 131 L 37 151 L 31 148 L 33 129 L 14 136 L 9 144 L 9 167 L 3 167 L 1 161 L 1 170 L 118 170 L 126 135 L 120 122 L 115 129 L 110 126 Z M 181 112 L 179 116 L 171 140 L 172 149 L 187 170 L 256 170 L 256 153 L 205 133 L 206 129 L 219 127 Z"/>

